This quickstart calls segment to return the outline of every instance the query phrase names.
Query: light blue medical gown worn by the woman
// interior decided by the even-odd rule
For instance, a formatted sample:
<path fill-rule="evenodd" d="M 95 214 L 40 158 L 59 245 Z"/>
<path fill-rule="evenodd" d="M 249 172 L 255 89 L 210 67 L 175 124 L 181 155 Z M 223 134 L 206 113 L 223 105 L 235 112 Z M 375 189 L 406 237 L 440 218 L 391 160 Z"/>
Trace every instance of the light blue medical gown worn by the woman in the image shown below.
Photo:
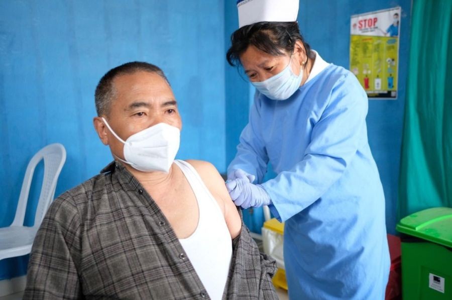
<path fill-rule="evenodd" d="M 228 171 L 240 168 L 261 182 L 270 162 L 278 174 L 262 185 L 285 221 L 291 299 L 384 298 L 385 198 L 367 110 L 355 75 L 333 64 L 285 101 L 256 92 Z"/>

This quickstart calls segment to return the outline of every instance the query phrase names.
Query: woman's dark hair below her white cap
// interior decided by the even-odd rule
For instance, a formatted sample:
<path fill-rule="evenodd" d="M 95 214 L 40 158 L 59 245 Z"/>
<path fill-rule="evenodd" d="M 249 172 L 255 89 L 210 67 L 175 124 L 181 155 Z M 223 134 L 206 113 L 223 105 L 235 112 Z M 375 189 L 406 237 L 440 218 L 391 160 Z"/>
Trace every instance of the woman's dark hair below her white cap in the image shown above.
<path fill-rule="evenodd" d="M 259 22 L 244 26 L 231 35 L 231 48 L 226 59 L 232 66 L 240 64 L 240 55 L 250 45 L 275 56 L 283 56 L 281 50 L 293 51 L 296 41 L 301 41 L 306 49 L 306 55 L 314 58 L 311 47 L 300 34 L 297 22 Z"/>

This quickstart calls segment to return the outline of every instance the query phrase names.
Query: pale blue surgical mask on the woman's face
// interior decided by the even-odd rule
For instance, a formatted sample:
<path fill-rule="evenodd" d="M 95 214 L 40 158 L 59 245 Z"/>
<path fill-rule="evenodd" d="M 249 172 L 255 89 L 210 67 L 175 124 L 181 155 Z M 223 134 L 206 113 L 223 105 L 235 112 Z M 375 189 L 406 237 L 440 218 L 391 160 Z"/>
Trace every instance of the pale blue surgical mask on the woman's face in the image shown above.
<path fill-rule="evenodd" d="M 286 100 L 300 87 L 303 80 L 303 67 L 300 67 L 300 74 L 297 76 L 287 67 L 278 74 L 261 82 L 251 82 L 261 93 L 273 100 Z"/>

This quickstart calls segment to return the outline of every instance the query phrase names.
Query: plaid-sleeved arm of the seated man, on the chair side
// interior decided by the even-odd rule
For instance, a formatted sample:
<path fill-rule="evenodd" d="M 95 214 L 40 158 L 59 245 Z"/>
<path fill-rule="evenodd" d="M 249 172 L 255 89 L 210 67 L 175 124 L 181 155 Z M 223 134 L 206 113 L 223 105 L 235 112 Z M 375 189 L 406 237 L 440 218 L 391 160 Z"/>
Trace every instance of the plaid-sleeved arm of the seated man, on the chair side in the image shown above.
<path fill-rule="evenodd" d="M 35 237 L 23 298 L 79 298 L 79 254 L 79 215 L 65 193 L 51 205 Z"/>

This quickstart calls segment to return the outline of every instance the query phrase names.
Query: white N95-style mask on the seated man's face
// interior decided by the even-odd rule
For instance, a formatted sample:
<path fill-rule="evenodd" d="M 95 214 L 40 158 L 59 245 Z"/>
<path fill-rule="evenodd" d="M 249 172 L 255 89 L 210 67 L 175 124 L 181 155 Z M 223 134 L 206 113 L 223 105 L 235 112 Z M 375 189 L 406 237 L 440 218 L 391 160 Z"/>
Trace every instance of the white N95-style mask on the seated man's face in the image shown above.
<path fill-rule="evenodd" d="M 108 125 L 103 122 L 111 133 L 124 143 L 124 158 L 119 160 L 130 164 L 139 171 L 162 171 L 168 173 L 180 144 L 180 130 L 166 123 L 146 128 L 131 135 L 123 141 Z"/>

